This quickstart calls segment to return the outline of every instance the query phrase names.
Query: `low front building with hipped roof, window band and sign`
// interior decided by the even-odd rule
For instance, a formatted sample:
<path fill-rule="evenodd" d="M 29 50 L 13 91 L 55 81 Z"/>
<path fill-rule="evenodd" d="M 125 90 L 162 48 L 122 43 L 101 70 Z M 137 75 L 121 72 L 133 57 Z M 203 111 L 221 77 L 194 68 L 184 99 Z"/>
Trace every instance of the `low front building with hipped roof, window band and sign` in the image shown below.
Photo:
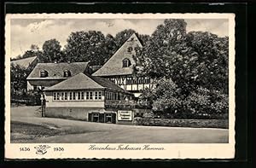
<path fill-rule="evenodd" d="M 107 78 L 83 72 L 44 89 L 44 97 L 45 117 L 102 123 L 118 123 L 118 119 L 131 121 L 134 117 L 130 111 L 108 108 L 109 104 L 132 102 L 132 93 Z"/>

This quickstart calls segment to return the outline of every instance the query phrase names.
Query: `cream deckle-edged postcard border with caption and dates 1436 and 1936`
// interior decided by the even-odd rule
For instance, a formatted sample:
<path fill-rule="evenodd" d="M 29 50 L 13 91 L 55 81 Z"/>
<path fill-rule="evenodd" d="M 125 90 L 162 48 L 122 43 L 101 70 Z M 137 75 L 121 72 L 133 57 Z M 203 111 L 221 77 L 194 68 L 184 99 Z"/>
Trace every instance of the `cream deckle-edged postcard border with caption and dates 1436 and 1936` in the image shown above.
<path fill-rule="evenodd" d="M 150 145 L 164 150 L 89 150 L 93 143 L 44 143 L 48 153 L 36 154 L 39 143 L 10 143 L 10 20 L 12 19 L 229 19 L 229 143 L 96 143 L 98 147 Z M 232 159 L 235 157 L 235 14 L 7 14 L 5 26 L 5 158 L 6 159 Z M 53 148 L 65 148 L 55 153 Z M 20 152 L 20 148 L 30 148 Z"/>

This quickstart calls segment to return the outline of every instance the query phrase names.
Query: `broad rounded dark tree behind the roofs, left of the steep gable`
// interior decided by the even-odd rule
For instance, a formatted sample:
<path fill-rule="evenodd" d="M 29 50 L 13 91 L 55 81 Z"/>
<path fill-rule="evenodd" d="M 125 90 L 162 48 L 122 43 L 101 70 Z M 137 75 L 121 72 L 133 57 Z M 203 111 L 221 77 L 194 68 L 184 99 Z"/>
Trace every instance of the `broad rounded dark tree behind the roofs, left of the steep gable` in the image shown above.
<path fill-rule="evenodd" d="M 90 61 L 90 65 L 102 65 L 108 59 L 105 43 L 102 32 L 72 32 L 64 49 L 65 59 L 67 61 Z"/>

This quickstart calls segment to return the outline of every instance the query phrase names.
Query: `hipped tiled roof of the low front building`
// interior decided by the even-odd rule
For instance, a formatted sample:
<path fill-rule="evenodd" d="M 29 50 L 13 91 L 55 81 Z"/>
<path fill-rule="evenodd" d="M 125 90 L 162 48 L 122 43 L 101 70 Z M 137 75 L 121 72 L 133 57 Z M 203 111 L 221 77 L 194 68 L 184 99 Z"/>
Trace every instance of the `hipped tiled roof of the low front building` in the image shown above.
<path fill-rule="evenodd" d="M 119 92 L 125 92 L 127 94 L 131 94 L 130 92 L 127 92 L 117 86 L 116 84 L 113 84 L 110 80 L 106 78 L 100 78 L 100 77 L 92 77 L 90 75 L 86 75 L 83 72 L 80 72 L 79 74 L 67 78 L 66 80 L 62 81 L 59 84 L 55 84 L 47 89 L 45 91 L 52 91 L 52 90 L 93 90 L 93 89 L 109 89 L 109 90 L 116 90 Z"/>

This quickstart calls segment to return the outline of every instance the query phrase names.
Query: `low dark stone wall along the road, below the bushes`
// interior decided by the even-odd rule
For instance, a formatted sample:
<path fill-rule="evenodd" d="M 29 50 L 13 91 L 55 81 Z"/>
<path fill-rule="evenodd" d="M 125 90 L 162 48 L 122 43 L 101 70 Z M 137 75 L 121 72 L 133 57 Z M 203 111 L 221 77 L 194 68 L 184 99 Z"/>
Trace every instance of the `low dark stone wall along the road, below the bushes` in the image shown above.
<path fill-rule="evenodd" d="M 195 128 L 229 128 L 228 119 L 142 119 L 136 118 L 133 125 L 195 127 Z"/>

